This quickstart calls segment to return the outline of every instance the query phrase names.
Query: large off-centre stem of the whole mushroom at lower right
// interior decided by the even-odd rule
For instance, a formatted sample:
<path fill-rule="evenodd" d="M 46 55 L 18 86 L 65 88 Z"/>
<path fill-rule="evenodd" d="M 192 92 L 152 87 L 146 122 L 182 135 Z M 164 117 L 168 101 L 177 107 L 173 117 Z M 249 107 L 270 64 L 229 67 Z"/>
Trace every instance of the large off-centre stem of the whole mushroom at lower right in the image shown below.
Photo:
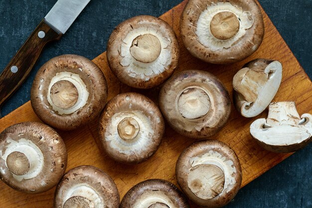
<path fill-rule="evenodd" d="M 203 164 L 193 167 L 187 177 L 188 188 L 198 198 L 210 200 L 218 196 L 224 188 L 223 171 L 216 165 Z"/>

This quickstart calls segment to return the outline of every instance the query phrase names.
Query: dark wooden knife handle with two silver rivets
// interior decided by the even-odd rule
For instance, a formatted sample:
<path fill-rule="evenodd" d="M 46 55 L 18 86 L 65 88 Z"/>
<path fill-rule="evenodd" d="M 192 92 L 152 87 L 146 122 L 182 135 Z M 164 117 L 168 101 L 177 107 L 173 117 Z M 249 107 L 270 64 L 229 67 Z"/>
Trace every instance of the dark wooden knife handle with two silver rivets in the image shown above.
<path fill-rule="evenodd" d="M 55 32 L 44 20 L 31 33 L 0 75 L 0 105 L 12 95 L 28 77 L 43 47 L 62 34 Z"/>

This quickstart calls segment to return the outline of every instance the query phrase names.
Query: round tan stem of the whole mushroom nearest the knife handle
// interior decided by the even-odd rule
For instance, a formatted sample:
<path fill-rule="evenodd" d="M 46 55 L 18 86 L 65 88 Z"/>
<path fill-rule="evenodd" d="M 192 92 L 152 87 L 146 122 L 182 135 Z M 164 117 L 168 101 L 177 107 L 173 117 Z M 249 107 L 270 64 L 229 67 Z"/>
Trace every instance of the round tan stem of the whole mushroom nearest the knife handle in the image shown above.
<path fill-rule="evenodd" d="M 50 91 L 53 104 L 60 108 L 70 108 L 78 101 L 78 90 L 75 85 L 67 80 L 56 82 Z"/>

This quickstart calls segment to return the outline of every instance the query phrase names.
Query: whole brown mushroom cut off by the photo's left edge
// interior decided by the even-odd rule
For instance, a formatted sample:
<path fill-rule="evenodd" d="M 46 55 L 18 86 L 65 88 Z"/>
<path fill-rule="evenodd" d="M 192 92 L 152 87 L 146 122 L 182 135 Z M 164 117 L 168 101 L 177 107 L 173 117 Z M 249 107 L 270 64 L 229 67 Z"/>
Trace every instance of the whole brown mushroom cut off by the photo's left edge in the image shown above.
<path fill-rule="evenodd" d="M 66 166 L 65 144 L 49 126 L 24 122 L 0 133 L 0 178 L 12 189 L 29 194 L 48 191 Z"/>

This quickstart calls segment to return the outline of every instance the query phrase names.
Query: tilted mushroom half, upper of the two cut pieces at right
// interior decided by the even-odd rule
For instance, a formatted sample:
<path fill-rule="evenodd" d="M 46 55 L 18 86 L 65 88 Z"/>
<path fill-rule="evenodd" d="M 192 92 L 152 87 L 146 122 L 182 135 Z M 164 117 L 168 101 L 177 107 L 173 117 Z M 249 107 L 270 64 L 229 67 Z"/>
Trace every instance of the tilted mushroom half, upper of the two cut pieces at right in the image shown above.
<path fill-rule="evenodd" d="M 245 117 L 255 117 L 274 99 L 282 81 L 279 61 L 255 59 L 247 63 L 233 78 L 236 109 Z"/>

